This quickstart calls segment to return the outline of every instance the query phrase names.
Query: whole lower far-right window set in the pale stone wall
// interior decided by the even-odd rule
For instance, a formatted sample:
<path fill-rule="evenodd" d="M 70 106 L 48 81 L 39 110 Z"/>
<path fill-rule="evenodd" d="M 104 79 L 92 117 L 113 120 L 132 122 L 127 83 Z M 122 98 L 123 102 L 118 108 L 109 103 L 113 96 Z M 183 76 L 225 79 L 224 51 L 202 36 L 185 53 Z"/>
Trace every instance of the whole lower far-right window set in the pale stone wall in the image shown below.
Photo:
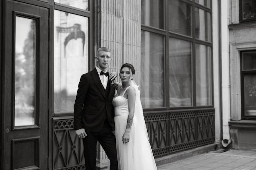
<path fill-rule="evenodd" d="M 256 120 L 256 51 L 241 52 L 242 119 Z"/>

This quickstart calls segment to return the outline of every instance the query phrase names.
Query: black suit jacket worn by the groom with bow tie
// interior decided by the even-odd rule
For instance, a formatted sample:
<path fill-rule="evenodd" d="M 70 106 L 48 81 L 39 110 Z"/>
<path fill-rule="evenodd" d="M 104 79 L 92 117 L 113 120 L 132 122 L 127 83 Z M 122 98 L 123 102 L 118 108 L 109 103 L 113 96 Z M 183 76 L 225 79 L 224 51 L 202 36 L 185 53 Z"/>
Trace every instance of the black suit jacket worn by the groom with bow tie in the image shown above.
<path fill-rule="evenodd" d="M 96 68 L 81 76 L 74 104 L 74 130 L 84 128 L 87 131 L 100 132 L 105 118 L 115 129 L 112 105 L 115 88 L 110 84 L 111 81 L 108 80 L 110 92 L 106 98 Z"/>

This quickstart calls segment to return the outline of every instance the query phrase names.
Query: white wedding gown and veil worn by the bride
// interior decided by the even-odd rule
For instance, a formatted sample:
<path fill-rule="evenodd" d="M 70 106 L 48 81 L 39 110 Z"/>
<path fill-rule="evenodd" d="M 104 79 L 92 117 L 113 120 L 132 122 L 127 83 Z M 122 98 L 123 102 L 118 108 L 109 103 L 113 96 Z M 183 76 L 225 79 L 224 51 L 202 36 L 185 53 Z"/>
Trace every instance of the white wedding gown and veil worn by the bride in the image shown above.
<path fill-rule="evenodd" d="M 138 86 L 134 85 L 130 87 L 135 88 L 136 101 L 134 118 L 130 129 L 130 141 L 127 144 L 123 144 L 122 142 L 129 114 L 128 99 L 124 98 L 126 91 L 123 96 L 115 96 L 113 98 L 119 170 L 157 170 L 152 149 L 148 141 Z"/>

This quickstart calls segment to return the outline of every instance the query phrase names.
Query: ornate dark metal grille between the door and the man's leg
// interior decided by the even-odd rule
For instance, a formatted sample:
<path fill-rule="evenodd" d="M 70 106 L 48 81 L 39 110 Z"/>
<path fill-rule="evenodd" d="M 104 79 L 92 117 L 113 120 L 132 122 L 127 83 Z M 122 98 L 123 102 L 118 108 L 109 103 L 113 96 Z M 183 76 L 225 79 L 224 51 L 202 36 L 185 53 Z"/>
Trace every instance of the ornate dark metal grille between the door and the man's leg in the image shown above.
<path fill-rule="evenodd" d="M 85 170 L 83 140 L 73 130 L 73 120 L 54 120 L 53 169 Z"/>

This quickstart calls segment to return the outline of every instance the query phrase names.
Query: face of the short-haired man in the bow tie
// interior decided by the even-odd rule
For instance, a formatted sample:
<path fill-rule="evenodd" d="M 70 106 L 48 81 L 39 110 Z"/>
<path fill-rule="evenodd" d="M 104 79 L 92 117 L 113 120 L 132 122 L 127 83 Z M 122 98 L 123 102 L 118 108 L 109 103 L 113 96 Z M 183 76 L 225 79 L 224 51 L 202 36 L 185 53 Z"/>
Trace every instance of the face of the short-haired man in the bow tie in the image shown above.
<path fill-rule="evenodd" d="M 111 63 L 110 52 L 100 51 L 98 56 L 95 57 L 98 62 L 98 68 L 105 71 L 108 68 L 108 64 Z"/>

